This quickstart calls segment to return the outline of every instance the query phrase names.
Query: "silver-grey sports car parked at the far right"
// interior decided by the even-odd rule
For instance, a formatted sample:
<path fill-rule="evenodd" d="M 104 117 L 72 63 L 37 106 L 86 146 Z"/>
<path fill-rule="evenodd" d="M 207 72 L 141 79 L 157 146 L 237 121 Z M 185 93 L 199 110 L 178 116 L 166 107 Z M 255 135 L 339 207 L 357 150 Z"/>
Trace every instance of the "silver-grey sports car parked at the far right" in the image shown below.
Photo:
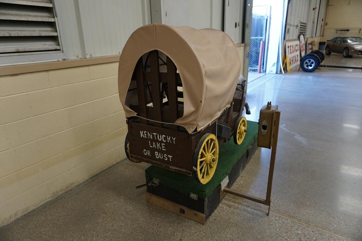
<path fill-rule="evenodd" d="M 361 37 L 336 37 L 325 43 L 325 54 L 341 53 L 343 57 L 362 55 Z"/>

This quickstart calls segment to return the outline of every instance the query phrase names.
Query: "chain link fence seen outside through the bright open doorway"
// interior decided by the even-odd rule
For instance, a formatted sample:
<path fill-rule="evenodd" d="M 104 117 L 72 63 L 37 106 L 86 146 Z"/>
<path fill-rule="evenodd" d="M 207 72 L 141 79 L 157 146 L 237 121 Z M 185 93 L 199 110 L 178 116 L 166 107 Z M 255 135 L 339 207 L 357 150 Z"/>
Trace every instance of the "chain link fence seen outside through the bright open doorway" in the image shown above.
<path fill-rule="evenodd" d="M 258 71 L 260 42 L 261 42 L 261 40 L 265 41 L 267 18 L 268 17 L 266 15 L 260 15 L 260 14 L 253 13 L 252 25 L 251 25 L 250 52 L 249 52 L 249 72 Z M 263 53 L 263 55 L 264 55 L 264 53 Z M 263 62 L 264 61 L 262 60 L 262 65 L 263 65 Z M 261 69 L 263 69 L 263 66 Z"/>

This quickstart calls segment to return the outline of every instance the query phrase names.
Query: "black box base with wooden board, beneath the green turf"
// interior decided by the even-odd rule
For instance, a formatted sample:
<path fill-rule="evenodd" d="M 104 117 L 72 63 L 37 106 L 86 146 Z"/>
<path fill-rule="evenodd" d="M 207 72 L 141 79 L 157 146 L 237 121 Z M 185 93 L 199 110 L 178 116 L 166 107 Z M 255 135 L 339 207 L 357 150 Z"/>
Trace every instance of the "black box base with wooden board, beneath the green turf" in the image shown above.
<path fill-rule="evenodd" d="M 253 144 L 245 151 L 243 156 L 228 174 L 228 188 L 231 188 L 240 176 L 241 171 L 243 171 L 257 149 L 257 139 L 255 139 Z M 216 210 L 224 197 L 223 193 L 220 191 L 221 184 L 214 189 L 209 197 L 195 197 L 194 195 L 190 196 L 190 193 L 184 193 L 173 189 L 162 182 L 155 185 L 152 181 L 153 180 L 146 178 L 147 202 L 153 203 L 154 205 L 165 208 L 166 210 L 201 224 L 206 223 L 206 220 L 210 218 L 211 214 Z"/>

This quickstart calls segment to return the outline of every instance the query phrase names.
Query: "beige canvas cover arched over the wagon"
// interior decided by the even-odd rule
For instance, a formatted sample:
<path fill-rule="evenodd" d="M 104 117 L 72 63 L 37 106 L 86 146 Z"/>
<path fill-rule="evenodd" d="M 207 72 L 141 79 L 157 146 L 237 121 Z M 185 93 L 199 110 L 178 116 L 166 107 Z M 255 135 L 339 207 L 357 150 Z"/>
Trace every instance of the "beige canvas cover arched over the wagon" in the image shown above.
<path fill-rule="evenodd" d="M 126 117 L 136 116 L 126 105 L 135 65 L 152 50 L 169 56 L 180 73 L 184 115 L 175 124 L 189 133 L 201 130 L 230 106 L 241 68 L 239 52 L 230 37 L 214 29 L 153 23 L 131 34 L 119 59 L 118 92 Z"/>

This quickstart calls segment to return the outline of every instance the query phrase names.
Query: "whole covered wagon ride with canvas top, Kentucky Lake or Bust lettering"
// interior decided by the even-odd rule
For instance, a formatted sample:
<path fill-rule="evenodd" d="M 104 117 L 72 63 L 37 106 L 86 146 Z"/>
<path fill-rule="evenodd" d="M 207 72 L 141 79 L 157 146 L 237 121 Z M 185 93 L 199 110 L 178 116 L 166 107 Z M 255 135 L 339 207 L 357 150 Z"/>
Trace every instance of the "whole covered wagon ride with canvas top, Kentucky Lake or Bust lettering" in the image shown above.
<path fill-rule="evenodd" d="M 127 157 L 210 181 L 219 146 L 232 136 L 240 145 L 247 130 L 240 66 L 222 31 L 162 24 L 135 30 L 118 67 Z"/>

